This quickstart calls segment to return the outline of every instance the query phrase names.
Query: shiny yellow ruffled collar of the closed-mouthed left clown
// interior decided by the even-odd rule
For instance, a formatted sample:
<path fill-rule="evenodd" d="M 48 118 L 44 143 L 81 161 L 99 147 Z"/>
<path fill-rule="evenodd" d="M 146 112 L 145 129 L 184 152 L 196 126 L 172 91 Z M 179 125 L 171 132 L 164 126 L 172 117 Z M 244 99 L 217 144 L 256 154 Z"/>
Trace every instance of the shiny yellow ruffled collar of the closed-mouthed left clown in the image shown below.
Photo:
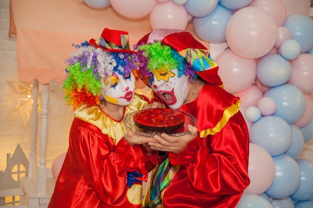
<path fill-rule="evenodd" d="M 123 118 L 128 113 L 142 109 L 146 104 L 147 102 L 140 95 L 134 94 L 133 101 L 124 108 Z M 98 106 L 87 107 L 86 105 L 82 105 L 75 110 L 74 117 L 93 124 L 103 134 L 112 138 L 115 144 L 127 132 L 123 118 L 120 121 L 116 121 L 104 113 Z"/>

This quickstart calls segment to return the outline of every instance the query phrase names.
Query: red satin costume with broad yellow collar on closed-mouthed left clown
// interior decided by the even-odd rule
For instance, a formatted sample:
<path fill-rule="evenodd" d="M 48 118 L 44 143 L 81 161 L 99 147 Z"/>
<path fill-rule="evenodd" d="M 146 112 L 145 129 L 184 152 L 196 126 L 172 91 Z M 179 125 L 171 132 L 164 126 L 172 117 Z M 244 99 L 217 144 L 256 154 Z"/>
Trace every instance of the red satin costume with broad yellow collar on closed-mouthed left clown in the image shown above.
<path fill-rule="evenodd" d="M 124 115 L 146 104 L 134 99 Z M 146 181 L 146 153 L 126 143 L 125 133 L 122 120 L 110 118 L 98 106 L 79 107 L 48 208 L 140 208 L 142 182 L 129 188 L 127 172 L 136 171 L 142 174 L 138 179 Z"/>

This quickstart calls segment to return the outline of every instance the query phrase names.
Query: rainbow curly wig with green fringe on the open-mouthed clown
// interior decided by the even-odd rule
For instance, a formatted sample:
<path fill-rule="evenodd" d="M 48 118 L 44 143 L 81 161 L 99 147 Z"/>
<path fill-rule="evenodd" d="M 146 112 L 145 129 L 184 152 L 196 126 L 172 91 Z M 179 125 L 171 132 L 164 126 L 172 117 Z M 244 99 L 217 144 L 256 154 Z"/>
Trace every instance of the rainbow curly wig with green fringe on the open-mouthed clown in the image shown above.
<path fill-rule="evenodd" d="M 138 53 L 138 76 L 146 85 L 148 85 L 150 72 L 153 69 L 161 70 L 164 67 L 167 71 L 177 68 L 178 77 L 185 74 L 189 76 L 191 82 L 197 78 L 197 74 L 185 59 L 168 45 L 160 42 L 142 43 L 134 45 L 134 50 Z"/>

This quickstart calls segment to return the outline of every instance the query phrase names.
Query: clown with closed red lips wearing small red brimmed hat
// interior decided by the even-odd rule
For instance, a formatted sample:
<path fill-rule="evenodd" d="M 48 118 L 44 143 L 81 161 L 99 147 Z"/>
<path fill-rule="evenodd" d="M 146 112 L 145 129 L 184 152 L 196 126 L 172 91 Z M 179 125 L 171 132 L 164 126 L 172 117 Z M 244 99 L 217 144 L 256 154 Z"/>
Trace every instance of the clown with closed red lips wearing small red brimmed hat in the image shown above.
<path fill-rule="evenodd" d="M 123 137 L 124 115 L 147 105 L 134 93 L 138 63 L 128 33 L 104 28 L 66 62 L 63 91 L 74 119 L 48 208 L 140 208 L 144 160 L 152 155 Z"/>

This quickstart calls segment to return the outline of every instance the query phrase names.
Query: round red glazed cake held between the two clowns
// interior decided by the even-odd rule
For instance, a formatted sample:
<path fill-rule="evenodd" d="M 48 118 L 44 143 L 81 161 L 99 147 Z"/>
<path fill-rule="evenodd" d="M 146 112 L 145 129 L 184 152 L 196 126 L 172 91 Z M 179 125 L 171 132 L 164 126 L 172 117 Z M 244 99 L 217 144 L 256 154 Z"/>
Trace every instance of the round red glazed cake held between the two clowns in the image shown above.
<path fill-rule="evenodd" d="M 151 108 L 135 113 L 133 121 L 144 131 L 170 133 L 183 126 L 185 116 L 170 108 Z"/>

